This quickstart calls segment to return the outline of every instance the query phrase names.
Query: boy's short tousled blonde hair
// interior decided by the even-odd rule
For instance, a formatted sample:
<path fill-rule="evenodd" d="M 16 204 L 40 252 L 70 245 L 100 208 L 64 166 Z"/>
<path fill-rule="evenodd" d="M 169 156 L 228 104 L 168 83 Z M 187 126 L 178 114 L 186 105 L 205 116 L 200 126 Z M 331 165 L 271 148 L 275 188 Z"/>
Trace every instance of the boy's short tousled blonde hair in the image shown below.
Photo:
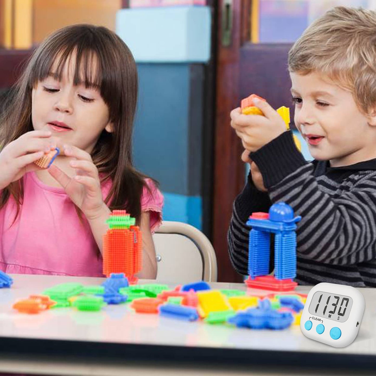
<path fill-rule="evenodd" d="M 376 105 L 376 12 L 343 6 L 327 11 L 294 43 L 288 69 L 324 74 L 349 89 L 367 114 Z"/>

